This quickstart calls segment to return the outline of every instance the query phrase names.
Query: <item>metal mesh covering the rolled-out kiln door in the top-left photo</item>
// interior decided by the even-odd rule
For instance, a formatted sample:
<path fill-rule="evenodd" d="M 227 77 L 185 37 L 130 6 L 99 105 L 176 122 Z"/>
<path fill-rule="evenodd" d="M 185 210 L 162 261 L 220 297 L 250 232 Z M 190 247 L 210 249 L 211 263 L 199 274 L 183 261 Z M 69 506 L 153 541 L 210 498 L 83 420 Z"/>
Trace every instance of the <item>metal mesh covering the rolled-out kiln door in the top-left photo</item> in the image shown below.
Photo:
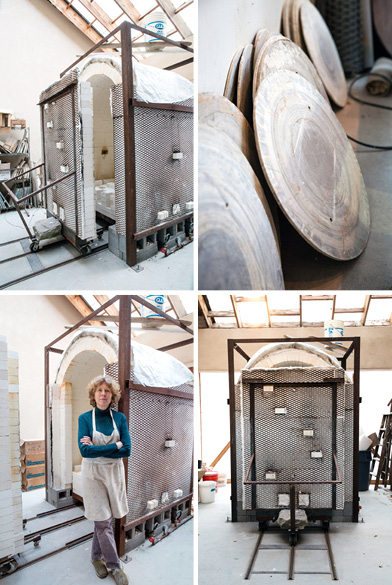
<path fill-rule="evenodd" d="M 71 72 L 41 93 L 46 181 L 76 175 L 47 190 L 46 208 L 83 237 L 82 163 L 77 73 Z M 58 92 L 63 91 L 60 95 Z M 52 97 L 53 96 L 53 97 Z"/>

